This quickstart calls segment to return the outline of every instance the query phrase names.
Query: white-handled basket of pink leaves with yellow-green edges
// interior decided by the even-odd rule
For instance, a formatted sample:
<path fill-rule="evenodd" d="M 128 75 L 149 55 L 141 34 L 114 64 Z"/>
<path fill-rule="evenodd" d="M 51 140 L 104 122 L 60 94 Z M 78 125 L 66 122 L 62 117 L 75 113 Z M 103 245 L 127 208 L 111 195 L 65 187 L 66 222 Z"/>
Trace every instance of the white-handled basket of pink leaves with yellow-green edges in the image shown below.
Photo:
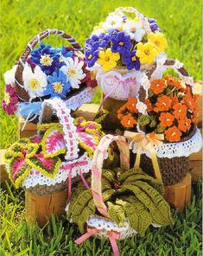
<path fill-rule="evenodd" d="M 47 120 L 47 107 L 55 112 L 59 123 L 43 123 Z M 7 150 L 11 180 L 16 187 L 22 186 L 35 195 L 50 195 L 68 187 L 70 197 L 72 178 L 77 182 L 81 176 L 85 181 L 83 174 L 92 169 L 91 156 L 102 134 L 99 129 L 97 123 L 86 122 L 84 118 L 74 120 L 62 99 L 46 99 L 38 134 L 22 138 L 24 144 L 14 144 Z"/>

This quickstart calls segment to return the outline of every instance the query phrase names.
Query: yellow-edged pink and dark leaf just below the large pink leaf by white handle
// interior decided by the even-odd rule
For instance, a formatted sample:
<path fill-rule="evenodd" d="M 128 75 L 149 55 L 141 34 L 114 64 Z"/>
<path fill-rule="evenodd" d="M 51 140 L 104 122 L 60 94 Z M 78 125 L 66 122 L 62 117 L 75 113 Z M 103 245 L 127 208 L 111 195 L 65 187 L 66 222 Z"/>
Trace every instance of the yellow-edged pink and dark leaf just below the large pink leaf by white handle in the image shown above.
<path fill-rule="evenodd" d="M 35 154 L 25 160 L 31 168 L 40 171 L 43 175 L 53 178 L 60 167 L 59 157 L 44 157 L 43 154 Z"/>

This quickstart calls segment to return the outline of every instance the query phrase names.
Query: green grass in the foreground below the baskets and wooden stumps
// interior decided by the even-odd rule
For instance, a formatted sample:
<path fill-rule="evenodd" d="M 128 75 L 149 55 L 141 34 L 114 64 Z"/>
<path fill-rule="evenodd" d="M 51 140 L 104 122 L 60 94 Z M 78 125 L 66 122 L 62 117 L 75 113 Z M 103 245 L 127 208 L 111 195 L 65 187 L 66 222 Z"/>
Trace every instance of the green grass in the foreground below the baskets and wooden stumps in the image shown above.
<path fill-rule="evenodd" d="M 43 229 L 30 227 L 25 221 L 24 192 L 10 188 L 1 190 L 0 254 L 2 256 L 62 256 L 111 255 L 107 240 L 90 239 L 81 246 L 75 226 L 65 217 L 53 218 Z M 120 256 L 199 256 L 201 255 L 201 181 L 193 186 L 193 200 L 183 214 L 173 210 L 174 224 L 168 227 L 150 227 L 141 238 L 133 236 L 119 241 Z"/>

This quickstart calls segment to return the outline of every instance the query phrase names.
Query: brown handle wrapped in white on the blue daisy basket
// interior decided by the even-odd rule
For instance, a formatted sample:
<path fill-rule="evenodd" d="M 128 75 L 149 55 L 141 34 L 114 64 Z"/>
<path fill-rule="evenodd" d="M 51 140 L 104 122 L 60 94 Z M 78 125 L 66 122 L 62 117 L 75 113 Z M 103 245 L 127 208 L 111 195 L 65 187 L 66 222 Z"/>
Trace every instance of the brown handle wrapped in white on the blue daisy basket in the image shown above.
<path fill-rule="evenodd" d="M 21 54 L 19 62 L 16 67 L 16 74 L 15 74 L 15 86 L 16 86 L 16 93 L 19 96 L 19 100 L 29 101 L 29 94 L 23 88 L 23 80 L 22 80 L 22 72 L 24 69 L 24 65 L 26 60 L 29 57 L 32 49 L 41 42 L 42 39 L 47 38 L 49 35 L 59 35 L 60 37 L 64 38 L 69 42 L 72 47 L 76 50 L 83 51 L 83 48 L 79 45 L 73 36 L 68 35 L 64 31 L 60 31 L 58 29 L 46 29 L 42 31 L 40 34 L 35 35 L 35 37 L 26 45 L 24 51 Z"/>

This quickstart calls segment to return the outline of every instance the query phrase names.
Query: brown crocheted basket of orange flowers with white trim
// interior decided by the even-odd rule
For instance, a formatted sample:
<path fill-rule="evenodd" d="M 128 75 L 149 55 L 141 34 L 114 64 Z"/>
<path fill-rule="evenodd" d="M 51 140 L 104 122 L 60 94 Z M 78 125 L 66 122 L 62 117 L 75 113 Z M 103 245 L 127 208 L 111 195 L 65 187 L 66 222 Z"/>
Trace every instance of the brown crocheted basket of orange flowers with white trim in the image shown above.
<path fill-rule="evenodd" d="M 168 68 L 174 69 L 179 78 L 163 76 Z M 161 138 L 162 142 L 154 145 L 155 154 L 163 183 L 172 185 L 186 176 L 189 155 L 201 148 L 200 130 L 195 125 L 198 96 L 193 93 L 193 79 L 180 61 L 168 59 L 150 68 L 147 74 L 148 95 L 128 99 L 118 110 L 117 118 L 127 131 L 149 134 L 151 141 L 157 135 Z M 133 144 L 133 152 L 136 150 L 137 142 Z M 140 166 L 153 175 L 150 158 L 149 150 L 143 149 Z"/>

